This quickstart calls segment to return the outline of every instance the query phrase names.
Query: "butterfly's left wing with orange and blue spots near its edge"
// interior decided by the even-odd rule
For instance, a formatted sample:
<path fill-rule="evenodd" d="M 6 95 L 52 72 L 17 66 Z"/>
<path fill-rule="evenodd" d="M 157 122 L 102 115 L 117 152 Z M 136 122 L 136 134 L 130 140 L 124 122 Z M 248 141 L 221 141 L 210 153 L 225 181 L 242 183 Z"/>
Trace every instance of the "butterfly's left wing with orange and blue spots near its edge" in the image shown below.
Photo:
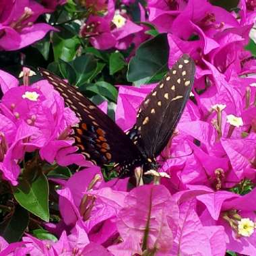
<path fill-rule="evenodd" d="M 73 127 L 72 137 L 81 154 L 99 166 L 109 162 L 124 166 L 140 158 L 131 139 L 98 106 L 57 75 L 42 68 L 39 71 L 79 117 L 80 123 Z"/>

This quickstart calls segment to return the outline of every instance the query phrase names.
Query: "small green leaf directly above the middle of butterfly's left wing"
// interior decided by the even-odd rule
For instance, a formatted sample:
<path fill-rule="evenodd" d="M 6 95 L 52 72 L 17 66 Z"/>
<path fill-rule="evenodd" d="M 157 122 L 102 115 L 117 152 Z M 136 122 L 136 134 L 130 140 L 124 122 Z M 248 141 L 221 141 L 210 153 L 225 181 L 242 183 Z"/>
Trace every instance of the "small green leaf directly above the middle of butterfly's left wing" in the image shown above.
<path fill-rule="evenodd" d="M 96 84 L 89 84 L 84 88 L 84 90 L 94 92 L 100 96 L 104 96 L 113 102 L 116 102 L 117 100 L 117 89 L 115 86 L 104 81 L 96 82 Z"/>

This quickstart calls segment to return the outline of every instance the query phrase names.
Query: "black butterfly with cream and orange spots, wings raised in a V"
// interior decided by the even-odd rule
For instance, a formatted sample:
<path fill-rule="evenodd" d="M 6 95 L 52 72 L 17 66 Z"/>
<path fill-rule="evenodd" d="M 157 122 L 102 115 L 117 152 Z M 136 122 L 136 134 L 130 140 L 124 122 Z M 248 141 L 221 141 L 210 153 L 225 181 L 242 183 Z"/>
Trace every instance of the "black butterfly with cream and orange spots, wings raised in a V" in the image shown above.
<path fill-rule="evenodd" d="M 45 69 L 39 70 L 81 121 L 73 127 L 72 135 L 78 152 L 98 166 L 114 162 L 120 177 L 131 177 L 137 166 L 144 172 L 156 169 L 156 156 L 168 143 L 189 98 L 195 64 L 188 55 L 174 64 L 143 100 L 136 124 L 126 134 L 73 86 Z"/>

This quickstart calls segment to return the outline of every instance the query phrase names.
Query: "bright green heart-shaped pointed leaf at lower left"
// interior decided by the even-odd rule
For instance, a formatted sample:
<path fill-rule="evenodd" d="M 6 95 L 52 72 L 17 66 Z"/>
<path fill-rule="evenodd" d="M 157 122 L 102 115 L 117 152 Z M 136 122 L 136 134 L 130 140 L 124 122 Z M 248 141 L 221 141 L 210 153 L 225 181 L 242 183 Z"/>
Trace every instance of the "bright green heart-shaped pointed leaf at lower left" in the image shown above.
<path fill-rule="evenodd" d="M 22 207 L 49 222 L 49 184 L 42 172 L 38 172 L 34 179 L 22 177 L 19 185 L 13 187 L 13 195 Z"/>

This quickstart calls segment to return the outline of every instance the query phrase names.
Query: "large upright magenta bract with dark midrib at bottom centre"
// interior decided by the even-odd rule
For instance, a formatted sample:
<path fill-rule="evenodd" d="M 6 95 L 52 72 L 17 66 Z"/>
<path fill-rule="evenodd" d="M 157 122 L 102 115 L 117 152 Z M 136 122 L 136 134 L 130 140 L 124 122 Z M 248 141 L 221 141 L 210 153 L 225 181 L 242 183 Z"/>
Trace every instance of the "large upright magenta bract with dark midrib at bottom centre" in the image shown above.
<path fill-rule="evenodd" d="M 179 209 L 161 185 L 133 189 L 118 214 L 117 228 L 123 243 L 108 247 L 114 255 L 170 253 L 177 232 Z M 158 255 L 158 254 L 157 254 Z"/>

